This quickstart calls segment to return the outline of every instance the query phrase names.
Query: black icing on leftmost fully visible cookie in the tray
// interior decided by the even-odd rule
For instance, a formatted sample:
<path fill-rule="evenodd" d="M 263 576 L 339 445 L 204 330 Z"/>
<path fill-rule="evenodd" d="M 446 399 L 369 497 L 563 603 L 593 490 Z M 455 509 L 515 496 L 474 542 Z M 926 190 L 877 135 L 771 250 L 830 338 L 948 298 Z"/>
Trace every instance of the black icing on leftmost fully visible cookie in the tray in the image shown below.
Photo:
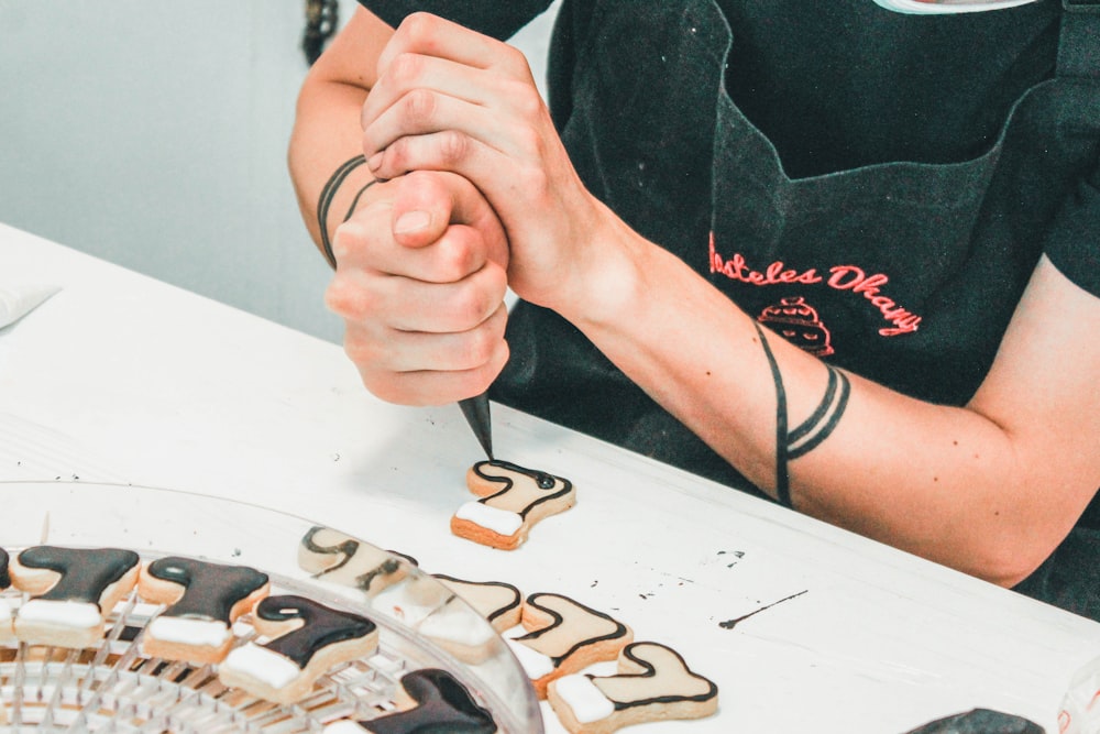
<path fill-rule="evenodd" d="M 138 554 L 117 548 L 36 546 L 23 550 L 18 558 L 26 568 L 54 571 L 61 577 L 50 591 L 36 599 L 88 602 L 97 609 L 107 588 L 140 562 Z"/>

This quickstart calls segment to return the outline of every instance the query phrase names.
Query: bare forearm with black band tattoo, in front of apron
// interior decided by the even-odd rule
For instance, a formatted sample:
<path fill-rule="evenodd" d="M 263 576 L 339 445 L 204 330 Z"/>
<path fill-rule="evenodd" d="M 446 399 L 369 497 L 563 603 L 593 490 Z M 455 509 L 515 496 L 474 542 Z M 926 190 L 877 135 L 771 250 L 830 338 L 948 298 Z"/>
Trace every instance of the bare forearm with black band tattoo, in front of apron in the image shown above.
<path fill-rule="evenodd" d="M 595 277 L 615 285 L 586 283 L 598 295 L 559 310 L 773 496 L 787 482 L 801 512 L 1005 584 L 1068 530 L 1071 510 L 1037 491 L 1058 478 L 989 412 L 842 374 L 758 329 L 663 250 L 625 228 L 604 237 L 615 244 L 598 245 L 608 254 Z"/>

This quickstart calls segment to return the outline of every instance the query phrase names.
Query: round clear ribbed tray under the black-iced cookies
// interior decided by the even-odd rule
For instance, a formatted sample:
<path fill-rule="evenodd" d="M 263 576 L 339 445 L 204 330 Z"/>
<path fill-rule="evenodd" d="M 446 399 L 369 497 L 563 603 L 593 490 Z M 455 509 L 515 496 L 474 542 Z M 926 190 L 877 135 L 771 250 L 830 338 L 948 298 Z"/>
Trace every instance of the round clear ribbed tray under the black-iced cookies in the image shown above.
<path fill-rule="evenodd" d="M 377 654 L 337 666 L 305 701 L 276 705 L 227 689 L 212 666 L 144 656 L 132 633 L 155 609 L 131 594 L 108 617 L 99 648 L 0 643 L 7 714 L 0 731 L 320 732 L 336 720 L 393 711 L 400 677 L 421 668 L 458 678 L 502 733 L 543 731 L 530 681 L 492 626 L 408 559 L 365 540 L 256 505 L 151 487 L 0 482 L 0 546 L 11 555 L 48 544 L 129 548 L 143 560 L 188 556 L 250 566 L 271 576 L 272 594 L 300 594 L 360 613 L 380 632 Z M 366 559 L 381 573 L 364 581 L 362 573 L 318 571 L 302 560 L 302 548 L 317 539 L 339 560 L 330 569 L 346 571 Z M 13 607 L 21 603 L 15 590 L 4 596 Z M 394 610 L 409 616 L 403 621 Z M 241 639 L 254 635 L 249 620 L 234 625 Z M 436 633 L 428 637 L 419 628 Z M 448 639 L 447 631 L 457 636 Z"/>

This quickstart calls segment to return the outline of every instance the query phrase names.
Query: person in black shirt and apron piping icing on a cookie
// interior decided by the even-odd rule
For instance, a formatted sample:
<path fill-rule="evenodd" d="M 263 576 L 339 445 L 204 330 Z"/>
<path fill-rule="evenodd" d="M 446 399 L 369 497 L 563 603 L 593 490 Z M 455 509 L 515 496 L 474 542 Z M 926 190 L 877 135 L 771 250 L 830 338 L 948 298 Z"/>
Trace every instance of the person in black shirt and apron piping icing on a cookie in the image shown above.
<path fill-rule="evenodd" d="M 548 105 L 504 41 L 548 0 L 361 2 L 289 165 L 367 388 L 1100 618 L 1088 2 L 564 0 Z"/>

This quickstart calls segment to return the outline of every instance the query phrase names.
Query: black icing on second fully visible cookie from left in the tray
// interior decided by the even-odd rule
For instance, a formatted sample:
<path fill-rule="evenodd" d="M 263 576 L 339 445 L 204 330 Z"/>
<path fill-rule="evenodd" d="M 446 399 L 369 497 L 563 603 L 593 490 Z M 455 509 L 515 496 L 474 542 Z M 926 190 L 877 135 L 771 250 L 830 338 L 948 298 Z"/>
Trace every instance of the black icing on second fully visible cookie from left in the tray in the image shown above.
<path fill-rule="evenodd" d="M 232 622 L 233 606 L 267 583 L 267 574 L 246 566 L 221 566 L 190 558 L 160 558 L 148 574 L 184 587 L 184 595 L 162 616 Z"/>

